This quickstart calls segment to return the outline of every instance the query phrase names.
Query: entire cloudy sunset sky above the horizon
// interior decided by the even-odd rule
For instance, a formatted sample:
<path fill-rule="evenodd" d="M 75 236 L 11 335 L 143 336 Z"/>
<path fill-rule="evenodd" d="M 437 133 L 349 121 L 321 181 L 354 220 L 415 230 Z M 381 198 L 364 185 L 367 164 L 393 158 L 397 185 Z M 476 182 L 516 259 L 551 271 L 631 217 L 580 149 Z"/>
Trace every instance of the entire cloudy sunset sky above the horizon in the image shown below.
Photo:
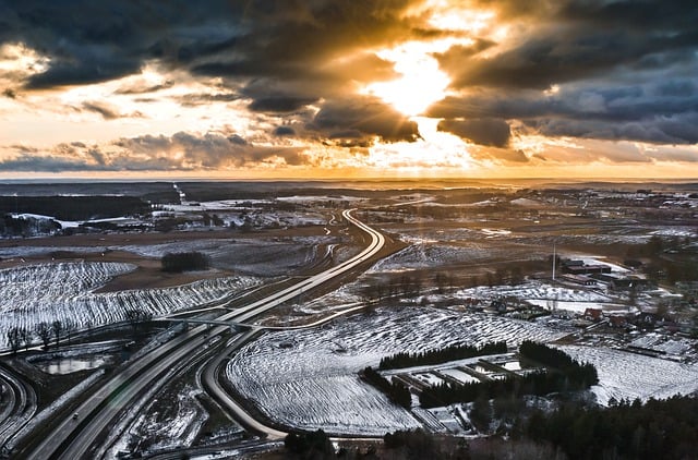
<path fill-rule="evenodd" d="M 698 2 L 0 0 L 0 179 L 696 178 Z"/>

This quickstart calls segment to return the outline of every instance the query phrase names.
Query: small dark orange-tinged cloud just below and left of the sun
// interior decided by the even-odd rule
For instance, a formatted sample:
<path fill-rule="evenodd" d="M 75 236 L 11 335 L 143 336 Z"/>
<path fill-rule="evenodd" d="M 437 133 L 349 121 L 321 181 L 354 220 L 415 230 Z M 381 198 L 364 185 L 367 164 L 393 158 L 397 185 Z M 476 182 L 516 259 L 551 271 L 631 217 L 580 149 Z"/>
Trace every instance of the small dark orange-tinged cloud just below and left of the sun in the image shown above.
<path fill-rule="evenodd" d="M 354 97 L 326 102 L 309 126 L 328 137 L 380 136 L 387 142 L 414 141 L 417 123 L 373 97 Z"/>

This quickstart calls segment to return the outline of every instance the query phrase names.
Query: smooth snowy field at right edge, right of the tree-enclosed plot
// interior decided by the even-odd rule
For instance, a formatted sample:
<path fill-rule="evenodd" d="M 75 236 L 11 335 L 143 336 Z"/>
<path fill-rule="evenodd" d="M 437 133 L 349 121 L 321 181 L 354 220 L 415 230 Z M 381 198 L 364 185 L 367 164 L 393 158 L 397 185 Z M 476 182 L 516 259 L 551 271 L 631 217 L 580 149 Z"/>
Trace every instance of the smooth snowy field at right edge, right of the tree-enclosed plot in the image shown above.
<path fill-rule="evenodd" d="M 592 387 L 599 403 L 616 400 L 669 398 L 698 391 L 698 364 L 682 364 L 600 347 L 565 346 L 575 360 L 593 364 L 599 385 Z"/>

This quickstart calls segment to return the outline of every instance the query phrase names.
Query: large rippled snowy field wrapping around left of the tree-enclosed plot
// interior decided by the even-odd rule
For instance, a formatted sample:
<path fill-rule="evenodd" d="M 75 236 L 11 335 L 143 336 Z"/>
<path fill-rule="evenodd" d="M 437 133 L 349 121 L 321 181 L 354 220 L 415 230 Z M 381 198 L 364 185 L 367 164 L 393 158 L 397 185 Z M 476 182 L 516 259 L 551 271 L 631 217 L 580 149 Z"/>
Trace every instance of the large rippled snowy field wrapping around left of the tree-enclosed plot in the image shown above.
<path fill-rule="evenodd" d="M 532 323 L 428 307 L 380 308 L 321 328 L 268 332 L 243 348 L 227 376 L 269 417 L 302 429 L 383 435 L 419 426 L 357 373 L 382 356 L 454 343 L 550 341 L 559 332 Z"/>

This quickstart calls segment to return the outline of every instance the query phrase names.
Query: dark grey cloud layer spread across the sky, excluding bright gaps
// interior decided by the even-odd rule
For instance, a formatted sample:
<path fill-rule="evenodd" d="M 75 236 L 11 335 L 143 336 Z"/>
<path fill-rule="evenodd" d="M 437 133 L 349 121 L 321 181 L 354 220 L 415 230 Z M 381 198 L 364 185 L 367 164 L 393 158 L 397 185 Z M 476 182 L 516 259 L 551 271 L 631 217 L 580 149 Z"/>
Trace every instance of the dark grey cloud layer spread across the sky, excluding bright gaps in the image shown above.
<path fill-rule="evenodd" d="M 0 45 L 25 44 L 50 58 L 48 70 L 2 94 L 13 98 L 16 92 L 110 81 L 156 62 L 166 72 L 220 82 L 217 94 L 182 96 L 182 106 L 242 99 L 260 117 L 289 119 L 292 128 L 266 129 L 276 137 L 351 147 L 370 145 L 376 136 L 414 141 L 419 137 L 414 122 L 376 98 L 351 92 L 357 83 L 396 76 L 393 63 L 362 50 L 455 34 L 430 25 L 428 13 L 406 14 L 422 3 L 0 0 Z M 527 132 L 549 136 L 698 143 L 695 1 L 465 0 L 460 4 L 494 10 L 497 21 L 513 25 L 514 38 L 497 43 L 485 32 L 483 36 L 460 33 L 472 45 L 435 55 L 452 77 L 452 89 L 460 95 L 430 109 L 430 116 L 444 119 L 440 130 L 502 150 L 510 145 L 513 120 Z M 147 94 L 172 85 L 171 81 L 136 83 L 117 93 Z M 75 109 L 106 120 L 124 116 L 104 101 L 85 101 Z M 184 152 L 180 164 L 165 156 L 144 160 L 158 169 L 245 165 L 273 155 L 288 164 L 303 160 L 296 150 L 273 154 L 239 141 L 178 133 L 121 140 L 117 147 L 144 157 L 147 149 Z M 63 148 L 65 169 L 79 168 L 81 161 L 87 169 L 130 167 L 110 152 Z M 519 152 L 493 155 L 507 161 L 528 160 Z M 29 168 L 32 158 L 20 153 L 11 161 L 19 169 Z M 60 167 L 49 157 L 37 161 L 44 165 L 40 168 Z"/>

